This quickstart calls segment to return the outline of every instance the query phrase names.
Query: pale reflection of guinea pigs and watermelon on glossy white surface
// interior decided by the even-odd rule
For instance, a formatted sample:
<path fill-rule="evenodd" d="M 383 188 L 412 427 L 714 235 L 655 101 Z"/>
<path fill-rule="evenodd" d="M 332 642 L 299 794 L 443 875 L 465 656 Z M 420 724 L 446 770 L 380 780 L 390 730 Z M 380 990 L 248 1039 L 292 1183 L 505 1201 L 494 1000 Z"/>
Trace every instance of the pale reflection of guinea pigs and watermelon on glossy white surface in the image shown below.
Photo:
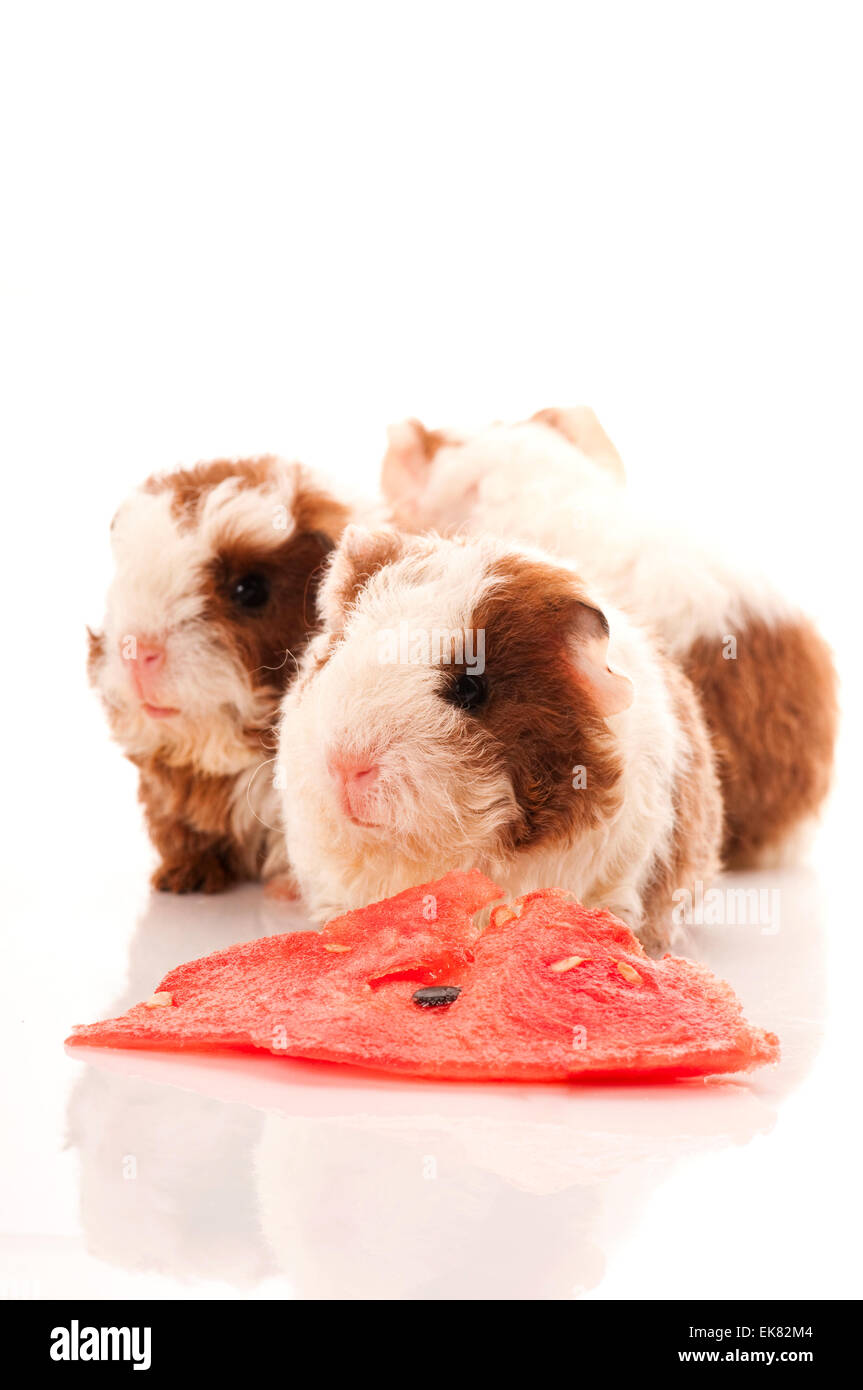
<path fill-rule="evenodd" d="M 445 1084 L 263 1054 L 88 1051 L 68 1136 L 90 1254 L 192 1286 L 300 1298 L 600 1290 L 674 1165 L 770 1133 L 817 1049 L 817 884 L 806 872 L 767 881 L 782 891 L 778 933 L 691 929 L 682 944 L 780 1033 L 782 1063 L 750 1081 Z M 254 888 L 156 895 L 110 1012 L 183 959 L 304 924 Z"/>

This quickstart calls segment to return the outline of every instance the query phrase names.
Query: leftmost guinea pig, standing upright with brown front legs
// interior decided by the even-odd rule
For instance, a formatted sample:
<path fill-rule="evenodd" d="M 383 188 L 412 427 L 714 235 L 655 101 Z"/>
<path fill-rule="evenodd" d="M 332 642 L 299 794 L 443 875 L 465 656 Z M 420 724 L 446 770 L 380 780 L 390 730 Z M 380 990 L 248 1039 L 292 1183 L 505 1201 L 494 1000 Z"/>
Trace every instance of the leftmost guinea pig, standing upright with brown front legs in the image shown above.
<path fill-rule="evenodd" d="M 157 888 L 288 883 L 274 721 L 315 626 L 347 507 L 299 463 L 202 463 L 153 477 L 111 524 L 115 573 L 90 681 L 140 769 Z"/>

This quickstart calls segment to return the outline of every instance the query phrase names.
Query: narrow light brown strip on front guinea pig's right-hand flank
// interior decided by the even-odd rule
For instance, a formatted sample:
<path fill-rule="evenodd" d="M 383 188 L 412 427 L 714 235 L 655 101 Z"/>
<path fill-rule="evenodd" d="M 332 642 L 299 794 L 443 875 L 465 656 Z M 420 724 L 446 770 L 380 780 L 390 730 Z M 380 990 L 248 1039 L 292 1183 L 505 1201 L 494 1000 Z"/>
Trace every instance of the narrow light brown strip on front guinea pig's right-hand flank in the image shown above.
<path fill-rule="evenodd" d="M 657 860 L 642 895 L 645 910 L 639 937 L 652 952 L 664 951 L 671 938 L 673 894 L 709 883 L 720 867 L 723 796 L 710 733 L 692 684 L 666 662 L 666 678 L 674 712 L 689 745 L 689 759 L 674 785 L 674 835 L 670 852 Z"/>

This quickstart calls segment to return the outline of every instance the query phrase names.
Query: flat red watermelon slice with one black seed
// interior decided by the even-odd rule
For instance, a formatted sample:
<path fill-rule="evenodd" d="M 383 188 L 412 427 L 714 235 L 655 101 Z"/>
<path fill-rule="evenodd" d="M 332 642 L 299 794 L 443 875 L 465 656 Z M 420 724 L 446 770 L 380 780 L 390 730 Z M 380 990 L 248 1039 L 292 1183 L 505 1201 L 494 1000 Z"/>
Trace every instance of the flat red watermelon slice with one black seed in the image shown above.
<path fill-rule="evenodd" d="M 650 960 L 628 927 L 557 890 L 500 898 L 450 873 L 336 917 L 172 970 L 145 1004 L 71 1044 L 265 1048 L 414 1076 L 653 1081 L 774 1062 L 703 966 Z"/>

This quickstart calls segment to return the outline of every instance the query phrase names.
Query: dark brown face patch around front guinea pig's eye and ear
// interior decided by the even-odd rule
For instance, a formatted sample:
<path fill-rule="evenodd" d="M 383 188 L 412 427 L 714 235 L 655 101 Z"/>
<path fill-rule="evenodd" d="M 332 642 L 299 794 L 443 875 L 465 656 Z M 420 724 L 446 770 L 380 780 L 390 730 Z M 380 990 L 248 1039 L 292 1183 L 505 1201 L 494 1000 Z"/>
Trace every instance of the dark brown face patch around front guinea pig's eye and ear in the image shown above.
<path fill-rule="evenodd" d="M 474 628 L 485 630 L 489 695 L 472 719 L 521 808 L 504 848 L 568 841 L 620 803 L 620 755 L 567 651 L 586 600 L 567 571 L 542 562 L 506 556 L 491 573 L 502 584 L 472 614 Z M 577 766 L 586 769 L 581 790 L 573 787 Z"/>

